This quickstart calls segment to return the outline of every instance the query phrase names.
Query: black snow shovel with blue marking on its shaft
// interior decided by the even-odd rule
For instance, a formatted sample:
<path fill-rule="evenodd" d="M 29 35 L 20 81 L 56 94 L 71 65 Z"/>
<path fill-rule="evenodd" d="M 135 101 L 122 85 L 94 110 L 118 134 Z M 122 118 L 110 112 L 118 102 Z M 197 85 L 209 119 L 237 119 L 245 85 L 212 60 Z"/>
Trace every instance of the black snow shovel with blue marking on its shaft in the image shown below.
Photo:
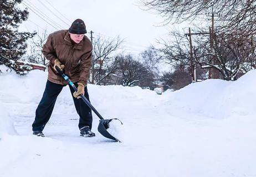
<path fill-rule="evenodd" d="M 62 75 L 62 77 L 68 82 L 68 84 L 73 88 L 74 91 L 78 91 L 78 88 L 76 88 L 74 83 L 70 81 L 69 77 L 62 70 L 60 70 L 58 66 L 55 66 L 55 69 L 59 72 L 60 75 Z M 106 138 L 115 140 L 116 142 L 120 142 L 119 139 L 113 137 L 109 132 L 107 132 L 107 128 L 109 128 L 109 123 L 113 119 L 116 119 L 116 120 L 119 120 L 119 119 L 118 118 L 104 119 L 100 115 L 100 113 L 93 107 L 93 105 L 91 105 L 91 103 L 87 100 L 87 98 L 83 94 L 80 94 L 79 96 L 86 103 L 86 105 L 89 106 L 91 108 L 91 110 L 93 110 L 93 112 L 100 118 L 100 123 L 98 126 L 98 131 L 100 132 L 100 134 L 102 134 Z M 122 122 L 121 122 L 121 124 L 122 124 Z"/>

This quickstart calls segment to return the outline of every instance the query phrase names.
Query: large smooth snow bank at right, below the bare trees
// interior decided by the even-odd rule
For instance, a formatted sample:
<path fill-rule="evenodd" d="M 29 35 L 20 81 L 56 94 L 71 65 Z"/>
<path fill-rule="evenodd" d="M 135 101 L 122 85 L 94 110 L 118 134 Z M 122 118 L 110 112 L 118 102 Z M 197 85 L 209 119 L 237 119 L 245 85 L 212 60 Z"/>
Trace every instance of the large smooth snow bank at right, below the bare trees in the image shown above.
<path fill-rule="evenodd" d="M 237 81 L 206 80 L 167 92 L 165 96 L 166 106 L 183 108 L 204 116 L 225 118 L 234 114 L 253 115 L 256 113 L 256 70 Z"/>

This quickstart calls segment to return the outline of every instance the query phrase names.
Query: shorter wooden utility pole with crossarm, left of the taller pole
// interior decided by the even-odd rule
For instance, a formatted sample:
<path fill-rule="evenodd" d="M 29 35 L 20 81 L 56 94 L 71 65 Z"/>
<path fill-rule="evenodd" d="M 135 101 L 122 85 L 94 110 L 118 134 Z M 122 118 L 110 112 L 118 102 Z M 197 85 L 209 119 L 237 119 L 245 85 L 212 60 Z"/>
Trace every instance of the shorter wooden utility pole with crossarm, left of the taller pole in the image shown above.
<path fill-rule="evenodd" d="M 191 60 L 191 76 L 192 76 L 192 83 L 197 82 L 196 78 L 196 64 L 193 62 L 193 45 L 192 45 L 192 35 L 203 35 L 203 34 L 209 34 L 209 33 L 191 33 L 191 28 L 188 28 L 188 33 L 185 33 L 185 35 L 190 37 L 190 60 Z"/>

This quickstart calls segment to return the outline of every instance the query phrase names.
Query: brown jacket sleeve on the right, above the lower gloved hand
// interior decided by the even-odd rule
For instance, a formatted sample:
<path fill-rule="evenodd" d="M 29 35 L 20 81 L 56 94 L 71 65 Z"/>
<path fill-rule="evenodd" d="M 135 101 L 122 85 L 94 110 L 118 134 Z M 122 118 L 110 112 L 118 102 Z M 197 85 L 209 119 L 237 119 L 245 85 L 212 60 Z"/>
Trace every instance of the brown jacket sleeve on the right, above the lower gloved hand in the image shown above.
<path fill-rule="evenodd" d="M 84 86 L 87 85 L 87 82 L 90 76 L 92 50 L 93 48 L 92 46 L 90 46 L 90 50 L 81 57 L 79 82 L 84 84 Z"/>

